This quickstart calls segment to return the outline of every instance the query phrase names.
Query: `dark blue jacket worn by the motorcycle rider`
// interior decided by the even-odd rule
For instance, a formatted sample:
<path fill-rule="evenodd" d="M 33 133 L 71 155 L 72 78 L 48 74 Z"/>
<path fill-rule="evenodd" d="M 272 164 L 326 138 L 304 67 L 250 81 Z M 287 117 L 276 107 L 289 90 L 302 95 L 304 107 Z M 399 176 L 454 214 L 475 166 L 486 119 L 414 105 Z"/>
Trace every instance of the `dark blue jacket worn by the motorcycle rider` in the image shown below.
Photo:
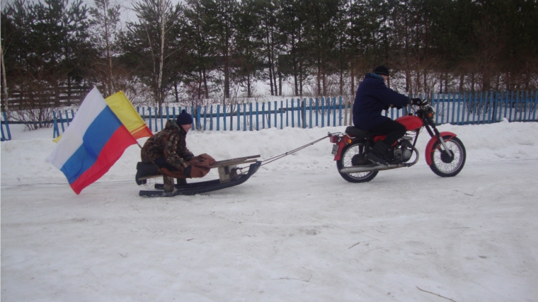
<path fill-rule="evenodd" d="M 408 97 L 385 86 L 382 76 L 366 74 L 355 95 L 353 124 L 357 128 L 370 130 L 390 120 L 381 115 L 382 110 L 387 110 L 390 105 L 404 107 L 409 103 L 411 100 Z"/>

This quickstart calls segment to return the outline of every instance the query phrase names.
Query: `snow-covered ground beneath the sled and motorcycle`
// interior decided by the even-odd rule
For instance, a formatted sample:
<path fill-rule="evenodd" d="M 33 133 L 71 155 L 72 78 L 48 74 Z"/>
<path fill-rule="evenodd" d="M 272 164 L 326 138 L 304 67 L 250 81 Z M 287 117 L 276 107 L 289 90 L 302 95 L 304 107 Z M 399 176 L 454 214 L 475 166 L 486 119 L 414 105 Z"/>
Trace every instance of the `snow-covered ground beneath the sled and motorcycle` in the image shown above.
<path fill-rule="evenodd" d="M 77 196 L 45 162 L 52 130 L 12 127 L 16 140 L 1 143 L 1 299 L 538 301 L 538 123 L 440 129 L 467 148 L 455 178 L 421 158 L 346 182 L 325 140 L 238 187 L 150 199 L 133 180 L 138 146 Z M 264 159 L 340 131 L 191 132 L 188 146 Z"/>

